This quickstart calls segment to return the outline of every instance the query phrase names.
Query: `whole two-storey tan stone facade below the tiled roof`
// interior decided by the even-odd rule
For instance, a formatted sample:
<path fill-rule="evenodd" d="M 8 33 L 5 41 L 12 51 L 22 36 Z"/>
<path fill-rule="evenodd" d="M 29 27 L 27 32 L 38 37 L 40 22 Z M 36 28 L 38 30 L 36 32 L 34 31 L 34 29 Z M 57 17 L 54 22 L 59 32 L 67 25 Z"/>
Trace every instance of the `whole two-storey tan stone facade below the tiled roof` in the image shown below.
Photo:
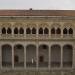
<path fill-rule="evenodd" d="M 65 71 L 73 75 L 74 24 L 75 17 L 72 16 L 0 17 L 1 73 L 21 70 L 25 74 L 32 70 L 27 74 L 31 75 L 36 70 L 33 73 L 39 73 L 37 75 L 65 75 Z M 13 71 L 14 75 L 16 72 Z"/>

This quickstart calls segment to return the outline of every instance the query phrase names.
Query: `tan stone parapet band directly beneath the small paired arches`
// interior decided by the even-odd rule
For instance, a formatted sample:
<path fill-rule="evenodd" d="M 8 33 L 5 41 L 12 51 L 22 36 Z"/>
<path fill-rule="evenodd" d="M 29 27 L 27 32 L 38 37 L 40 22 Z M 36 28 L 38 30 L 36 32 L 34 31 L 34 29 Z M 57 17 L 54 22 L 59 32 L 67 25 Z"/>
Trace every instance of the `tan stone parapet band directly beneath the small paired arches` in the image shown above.
<path fill-rule="evenodd" d="M 0 39 L 74 39 L 73 35 L 47 35 L 47 34 L 0 34 Z"/>

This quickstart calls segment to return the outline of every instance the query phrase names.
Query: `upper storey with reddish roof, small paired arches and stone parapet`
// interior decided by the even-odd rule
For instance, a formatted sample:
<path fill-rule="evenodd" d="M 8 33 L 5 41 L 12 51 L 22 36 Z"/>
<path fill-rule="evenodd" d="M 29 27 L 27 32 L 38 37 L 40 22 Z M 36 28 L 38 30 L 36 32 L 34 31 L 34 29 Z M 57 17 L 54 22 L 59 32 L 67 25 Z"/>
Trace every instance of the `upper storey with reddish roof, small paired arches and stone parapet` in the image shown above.
<path fill-rule="evenodd" d="M 74 39 L 74 12 L 0 10 L 0 39 Z"/>

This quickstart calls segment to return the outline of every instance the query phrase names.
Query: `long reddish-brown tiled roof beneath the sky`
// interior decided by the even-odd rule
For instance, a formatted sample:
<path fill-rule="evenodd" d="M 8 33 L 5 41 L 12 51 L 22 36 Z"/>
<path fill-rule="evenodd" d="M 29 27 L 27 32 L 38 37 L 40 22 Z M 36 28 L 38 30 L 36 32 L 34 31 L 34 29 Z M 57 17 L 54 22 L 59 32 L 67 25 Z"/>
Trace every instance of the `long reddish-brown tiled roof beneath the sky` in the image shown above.
<path fill-rule="evenodd" d="M 0 16 L 75 16 L 75 10 L 0 10 Z"/>

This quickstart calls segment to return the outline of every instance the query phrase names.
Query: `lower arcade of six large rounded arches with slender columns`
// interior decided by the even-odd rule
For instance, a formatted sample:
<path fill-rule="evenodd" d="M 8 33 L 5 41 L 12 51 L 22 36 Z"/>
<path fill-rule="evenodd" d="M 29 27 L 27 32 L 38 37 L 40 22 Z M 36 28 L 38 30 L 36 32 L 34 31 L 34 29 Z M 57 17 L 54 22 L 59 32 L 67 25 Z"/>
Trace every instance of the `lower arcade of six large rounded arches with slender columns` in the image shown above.
<path fill-rule="evenodd" d="M 72 68 L 73 46 L 59 44 L 39 46 L 28 44 L 1 46 L 3 68 Z M 12 53 L 13 52 L 13 53 Z"/>

